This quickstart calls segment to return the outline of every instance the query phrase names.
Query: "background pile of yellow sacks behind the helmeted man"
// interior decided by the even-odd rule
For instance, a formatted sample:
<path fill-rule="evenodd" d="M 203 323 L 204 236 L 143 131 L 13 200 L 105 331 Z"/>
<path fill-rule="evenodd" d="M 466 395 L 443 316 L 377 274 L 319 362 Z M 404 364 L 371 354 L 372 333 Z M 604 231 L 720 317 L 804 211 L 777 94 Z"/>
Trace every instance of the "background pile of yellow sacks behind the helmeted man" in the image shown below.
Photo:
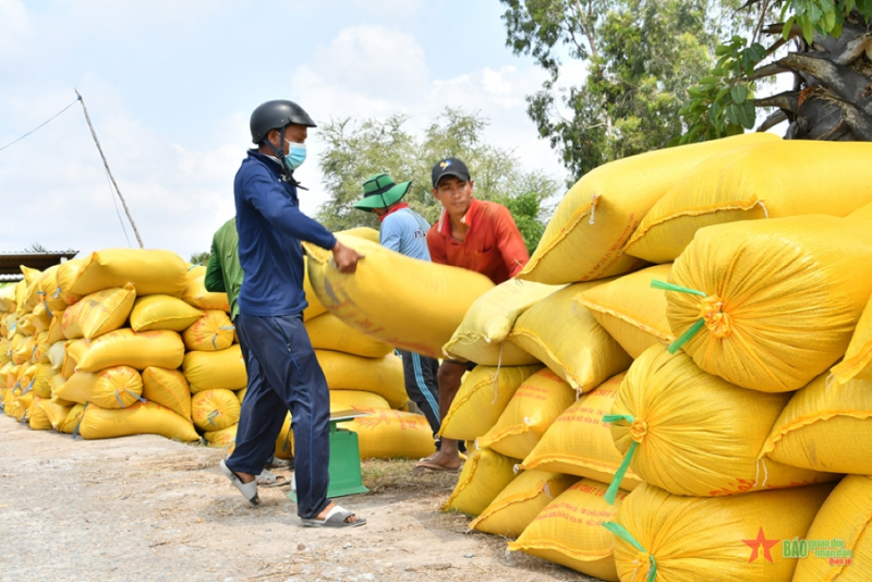
<path fill-rule="evenodd" d="M 376 238 L 371 229 L 355 232 Z M 202 437 L 232 450 L 246 373 L 226 293 L 205 289 L 205 267 L 168 251 L 108 250 L 0 289 L 0 395 L 33 429 L 85 439 L 158 434 Z M 393 349 L 326 313 L 311 290 L 305 326 L 327 376 L 332 411 L 363 458 L 419 458 L 434 450 L 408 402 Z M 291 457 L 288 414 L 276 456 Z"/>

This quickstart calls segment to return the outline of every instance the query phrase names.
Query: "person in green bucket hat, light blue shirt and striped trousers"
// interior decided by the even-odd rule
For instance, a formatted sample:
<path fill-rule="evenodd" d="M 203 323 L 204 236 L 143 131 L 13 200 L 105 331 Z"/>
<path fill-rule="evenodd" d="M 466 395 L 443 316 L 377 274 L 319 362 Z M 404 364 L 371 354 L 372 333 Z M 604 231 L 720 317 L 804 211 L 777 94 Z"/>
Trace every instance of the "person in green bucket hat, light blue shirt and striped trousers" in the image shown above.
<path fill-rule="evenodd" d="M 427 230 L 429 223 L 402 201 L 412 182 L 393 182 L 386 173 L 371 175 L 363 183 L 363 199 L 354 208 L 373 213 L 382 221 L 378 240 L 382 246 L 401 255 L 429 262 Z M 407 350 L 397 350 L 402 359 L 405 391 L 424 416 L 434 438 L 439 432 L 438 360 Z"/>

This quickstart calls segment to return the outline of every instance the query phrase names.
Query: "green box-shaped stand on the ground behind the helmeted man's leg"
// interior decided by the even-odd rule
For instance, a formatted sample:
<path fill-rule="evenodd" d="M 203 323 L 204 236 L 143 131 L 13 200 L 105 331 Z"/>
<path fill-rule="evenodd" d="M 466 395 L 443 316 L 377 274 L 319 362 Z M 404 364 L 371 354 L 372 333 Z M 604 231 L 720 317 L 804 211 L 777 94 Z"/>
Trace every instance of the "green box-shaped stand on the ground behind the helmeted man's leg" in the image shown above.
<path fill-rule="evenodd" d="M 356 410 L 342 410 L 330 413 L 330 464 L 327 471 L 330 474 L 330 485 L 327 487 L 327 498 L 346 497 L 367 493 L 361 475 L 361 448 L 358 444 L 358 434 L 339 428 L 339 423 L 348 422 L 359 416 L 366 416 Z M 291 490 L 288 498 L 296 502 L 296 492 Z"/>

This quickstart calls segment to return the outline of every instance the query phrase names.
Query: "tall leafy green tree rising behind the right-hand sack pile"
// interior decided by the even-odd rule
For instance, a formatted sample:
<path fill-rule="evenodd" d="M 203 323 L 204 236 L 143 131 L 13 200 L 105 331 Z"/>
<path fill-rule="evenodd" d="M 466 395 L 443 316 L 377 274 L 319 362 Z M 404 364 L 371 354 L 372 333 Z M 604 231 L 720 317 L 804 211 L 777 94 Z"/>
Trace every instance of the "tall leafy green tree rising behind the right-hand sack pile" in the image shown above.
<path fill-rule="evenodd" d="M 528 96 L 541 137 L 574 179 L 681 135 L 686 89 L 711 68 L 736 0 L 500 0 L 507 46 L 549 73 Z M 588 76 L 559 88 L 561 53 Z"/>

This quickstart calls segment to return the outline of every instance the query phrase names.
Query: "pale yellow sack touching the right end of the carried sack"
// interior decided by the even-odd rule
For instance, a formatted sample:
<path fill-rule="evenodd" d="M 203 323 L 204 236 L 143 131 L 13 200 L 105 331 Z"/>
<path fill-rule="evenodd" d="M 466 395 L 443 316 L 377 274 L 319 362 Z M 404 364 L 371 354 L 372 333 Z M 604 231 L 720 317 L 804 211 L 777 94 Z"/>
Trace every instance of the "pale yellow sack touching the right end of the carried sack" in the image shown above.
<path fill-rule="evenodd" d="M 537 360 L 506 342 L 514 320 L 561 287 L 509 279 L 487 291 L 470 306 L 460 327 L 443 347 L 450 357 L 487 366 L 535 364 Z"/>

